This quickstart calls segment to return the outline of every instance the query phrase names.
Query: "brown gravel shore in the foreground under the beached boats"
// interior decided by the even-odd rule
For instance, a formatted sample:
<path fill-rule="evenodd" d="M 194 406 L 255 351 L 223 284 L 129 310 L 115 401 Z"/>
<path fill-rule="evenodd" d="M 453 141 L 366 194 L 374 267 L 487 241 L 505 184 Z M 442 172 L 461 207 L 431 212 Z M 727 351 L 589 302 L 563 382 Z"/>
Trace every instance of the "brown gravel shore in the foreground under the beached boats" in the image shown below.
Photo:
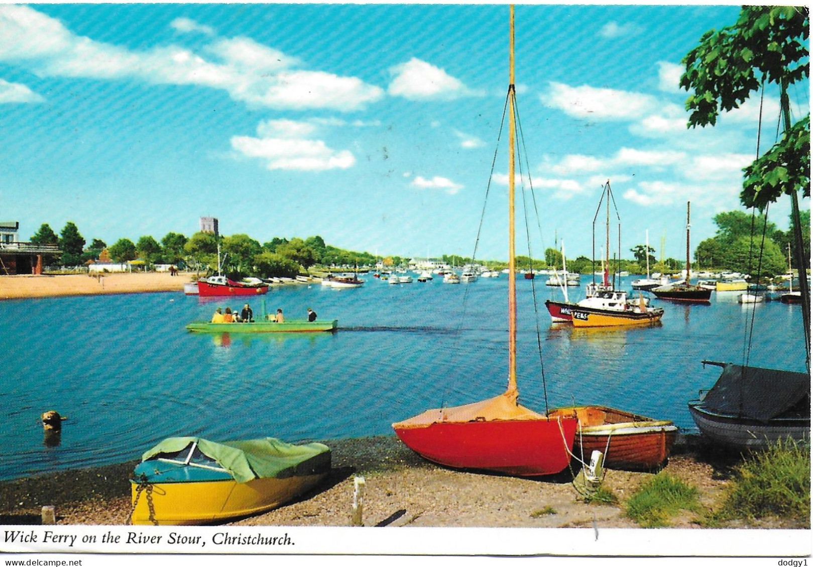
<path fill-rule="evenodd" d="M 520 479 L 449 470 L 424 461 L 394 436 L 324 441 L 333 471 L 314 492 L 280 509 L 244 518 L 239 526 L 349 526 L 354 476 L 366 481 L 366 526 L 637 527 L 624 500 L 651 473 L 607 470 L 603 483 L 617 505 L 587 504 L 565 470 L 554 478 Z M 681 437 L 665 470 L 698 487 L 711 509 L 737 463 L 705 453 L 697 438 Z M 54 505 L 59 524 L 124 525 L 130 513 L 129 475 L 136 462 L 70 470 L 0 483 L 0 524 L 36 524 L 41 506 Z M 698 528 L 684 513 L 672 527 Z M 725 527 L 784 528 L 781 520 Z"/>

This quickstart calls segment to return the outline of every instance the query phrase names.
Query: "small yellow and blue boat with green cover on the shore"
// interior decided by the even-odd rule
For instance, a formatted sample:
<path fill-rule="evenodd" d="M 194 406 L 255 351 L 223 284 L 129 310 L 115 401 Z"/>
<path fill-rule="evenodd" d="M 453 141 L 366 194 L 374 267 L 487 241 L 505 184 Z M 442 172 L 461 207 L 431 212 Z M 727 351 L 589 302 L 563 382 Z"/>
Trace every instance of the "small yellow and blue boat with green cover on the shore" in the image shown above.
<path fill-rule="evenodd" d="M 198 526 L 278 508 L 327 478 L 327 445 L 170 437 L 141 456 L 130 480 L 134 525 Z"/>

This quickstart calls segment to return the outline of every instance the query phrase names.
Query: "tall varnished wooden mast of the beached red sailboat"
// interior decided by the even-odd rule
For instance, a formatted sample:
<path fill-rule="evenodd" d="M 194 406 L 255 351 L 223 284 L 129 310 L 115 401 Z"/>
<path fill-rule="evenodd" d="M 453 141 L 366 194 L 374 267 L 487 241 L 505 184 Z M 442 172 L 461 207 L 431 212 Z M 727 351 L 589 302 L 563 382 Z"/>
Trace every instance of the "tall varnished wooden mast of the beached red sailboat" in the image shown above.
<path fill-rule="evenodd" d="M 514 5 L 508 33 L 508 391 L 516 392 L 516 266 L 514 230 Z"/>

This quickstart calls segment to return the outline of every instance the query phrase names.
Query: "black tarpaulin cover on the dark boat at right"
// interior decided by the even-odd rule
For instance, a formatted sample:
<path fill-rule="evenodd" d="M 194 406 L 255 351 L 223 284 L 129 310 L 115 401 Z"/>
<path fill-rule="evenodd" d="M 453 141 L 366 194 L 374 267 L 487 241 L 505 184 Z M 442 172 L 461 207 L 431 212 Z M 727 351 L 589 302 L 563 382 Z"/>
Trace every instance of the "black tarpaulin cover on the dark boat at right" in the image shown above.
<path fill-rule="evenodd" d="M 711 364 L 722 366 L 723 372 L 706 393 L 703 406 L 716 414 L 767 421 L 811 393 L 809 374 L 731 363 Z"/>

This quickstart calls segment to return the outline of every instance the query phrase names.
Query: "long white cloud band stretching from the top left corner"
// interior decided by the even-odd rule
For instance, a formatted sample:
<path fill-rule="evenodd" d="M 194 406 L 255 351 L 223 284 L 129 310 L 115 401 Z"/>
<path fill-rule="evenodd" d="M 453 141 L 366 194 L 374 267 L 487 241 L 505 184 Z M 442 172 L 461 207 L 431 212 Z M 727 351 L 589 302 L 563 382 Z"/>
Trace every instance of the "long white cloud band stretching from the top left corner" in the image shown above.
<path fill-rule="evenodd" d="M 175 24 L 194 27 L 191 20 Z M 205 53 L 214 59 L 175 45 L 129 51 L 76 36 L 28 6 L 0 6 L 0 61 L 23 63 L 44 76 L 198 85 L 274 109 L 359 110 L 384 96 L 355 77 L 298 70 L 298 59 L 246 37 L 215 41 Z"/>

